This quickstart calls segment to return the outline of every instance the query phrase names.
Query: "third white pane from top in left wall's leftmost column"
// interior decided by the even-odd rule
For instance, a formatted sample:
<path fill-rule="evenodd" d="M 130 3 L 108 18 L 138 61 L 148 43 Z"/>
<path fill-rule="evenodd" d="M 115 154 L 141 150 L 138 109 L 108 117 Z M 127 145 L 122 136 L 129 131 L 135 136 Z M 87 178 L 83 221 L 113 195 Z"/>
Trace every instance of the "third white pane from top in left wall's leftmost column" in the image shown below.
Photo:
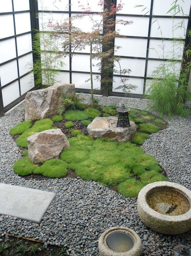
<path fill-rule="evenodd" d="M 0 42 L 0 63 L 16 57 L 15 38 Z"/>

